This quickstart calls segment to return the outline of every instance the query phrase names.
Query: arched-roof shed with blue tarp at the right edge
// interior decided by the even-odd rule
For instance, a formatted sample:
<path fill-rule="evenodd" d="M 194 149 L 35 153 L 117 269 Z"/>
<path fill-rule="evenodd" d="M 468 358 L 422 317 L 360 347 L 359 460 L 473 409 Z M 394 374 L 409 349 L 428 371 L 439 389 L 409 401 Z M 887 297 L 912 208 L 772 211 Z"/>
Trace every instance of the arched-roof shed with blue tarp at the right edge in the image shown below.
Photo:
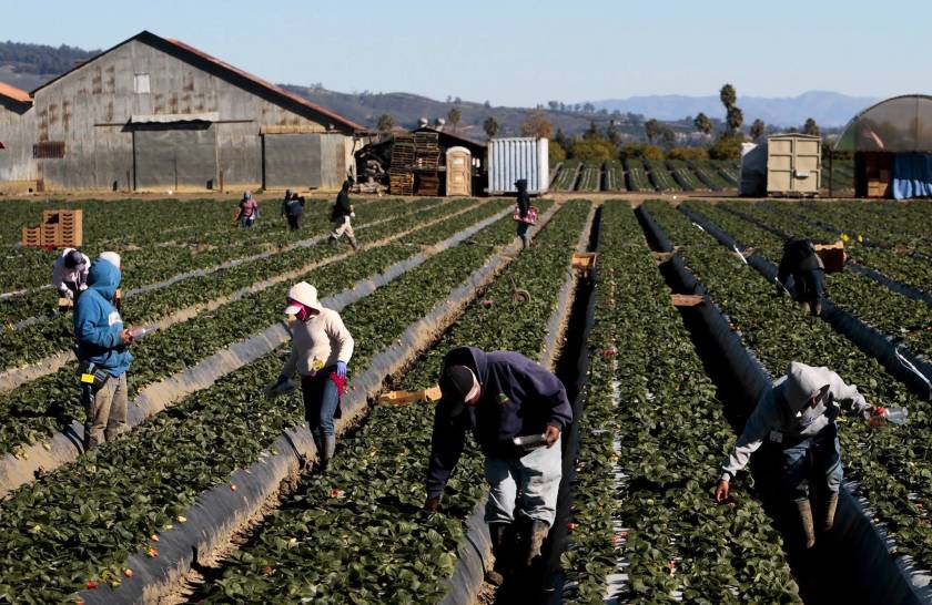
<path fill-rule="evenodd" d="M 932 196 L 932 96 L 871 105 L 848 123 L 833 152 L 854 154 L 859 197 Z"/>

